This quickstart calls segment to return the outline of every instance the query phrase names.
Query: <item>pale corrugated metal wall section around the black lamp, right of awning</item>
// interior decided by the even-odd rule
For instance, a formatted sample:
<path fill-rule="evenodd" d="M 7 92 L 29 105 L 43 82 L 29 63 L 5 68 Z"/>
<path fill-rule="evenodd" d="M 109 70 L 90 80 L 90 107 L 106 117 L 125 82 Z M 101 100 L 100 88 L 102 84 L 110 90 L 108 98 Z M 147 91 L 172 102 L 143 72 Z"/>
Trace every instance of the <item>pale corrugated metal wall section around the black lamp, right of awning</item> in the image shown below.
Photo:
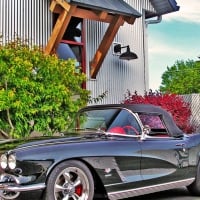
<path fill-rule="evenodd" d="M 149 0 L 126 0 L 131 6 L 141 14 L 144 10 L 153 10 Z M 148 58 L 146 46 L 146 31 L 144 17 L 136 19 L 134 25 L 127 23 L 122 26 L 115 37 L 114 42 L 121 43 L 123 46 L 130 45 L 131 51 L 138 55 L 138 59 L 123 61 L 113 55 L 111 46 L 103 65 L 95 80 L 89 77 L 89 61 L 94 56 L 98 44 L 105 33 L 107 25 L 94 21 L 87 21 L 87 89 L 91 90 L 92 97 L 97 97 L 107 91 L 107 97 L 99 103 L 120 103 L 124 99 L 127 90 L 138 91 L 144 94 L 148 90 Z"/>

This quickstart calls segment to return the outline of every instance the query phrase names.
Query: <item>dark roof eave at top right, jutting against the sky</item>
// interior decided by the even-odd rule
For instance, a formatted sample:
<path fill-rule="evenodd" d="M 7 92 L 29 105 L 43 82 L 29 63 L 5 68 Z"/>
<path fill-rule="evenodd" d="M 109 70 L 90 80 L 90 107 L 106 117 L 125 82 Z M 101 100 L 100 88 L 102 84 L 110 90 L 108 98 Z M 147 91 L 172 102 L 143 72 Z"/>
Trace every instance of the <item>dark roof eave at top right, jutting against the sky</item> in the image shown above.
<path fill-rule="evenodd" d="M 177 6 L 175 0 L 150 0 L 155 12 L 146 11 L 146 18 L 161 16 L 171 12 L 179 11 L 180 7 Z"/>

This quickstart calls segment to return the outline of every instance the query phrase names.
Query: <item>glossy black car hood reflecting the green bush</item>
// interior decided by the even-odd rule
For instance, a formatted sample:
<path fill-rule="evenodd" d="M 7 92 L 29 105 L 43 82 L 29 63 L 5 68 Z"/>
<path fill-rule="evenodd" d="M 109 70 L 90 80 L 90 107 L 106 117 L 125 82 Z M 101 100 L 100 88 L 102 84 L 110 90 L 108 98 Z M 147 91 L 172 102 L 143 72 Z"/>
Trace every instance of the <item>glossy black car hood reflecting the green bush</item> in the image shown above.
<path fill-rule="evenodd" d="M 102 136 L 99 133 L 67 133 L 62 137 L 36 137 L 25 139 L 8 139 L 0 141 L 0 154 L 2 152 L 14 149 L 31 148 L 45 145 L 64 144 L 64 143 L 80 143 L 86 141 L 100 140 Z"/>

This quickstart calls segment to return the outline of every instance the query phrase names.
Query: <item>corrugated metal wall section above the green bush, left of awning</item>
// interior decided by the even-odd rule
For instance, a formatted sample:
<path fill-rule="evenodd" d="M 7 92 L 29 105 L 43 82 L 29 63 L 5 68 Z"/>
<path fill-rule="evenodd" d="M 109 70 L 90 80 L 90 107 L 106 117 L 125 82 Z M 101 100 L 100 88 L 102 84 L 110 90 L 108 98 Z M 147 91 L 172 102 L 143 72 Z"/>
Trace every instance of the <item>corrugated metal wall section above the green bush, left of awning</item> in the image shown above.
<path fill-rule="evenodd" d="M 49 0 L 0 0 L 0 35 L 4 42 L 14 36 L 45 45 L 52 31 Z"/>

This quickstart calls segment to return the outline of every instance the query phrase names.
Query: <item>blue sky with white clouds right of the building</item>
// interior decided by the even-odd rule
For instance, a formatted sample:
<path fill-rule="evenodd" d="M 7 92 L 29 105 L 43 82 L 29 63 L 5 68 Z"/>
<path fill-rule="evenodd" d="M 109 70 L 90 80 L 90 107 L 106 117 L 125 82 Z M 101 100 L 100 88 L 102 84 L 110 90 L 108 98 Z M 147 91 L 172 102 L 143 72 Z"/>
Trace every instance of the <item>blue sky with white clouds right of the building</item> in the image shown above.
<path fill-rule="evenodd" d="M 178 60 L 199 60 L 200 0 L 176 0 L 178 12 L 148 26 L 149 88 L 158 90 L 162 74 Z"/>

